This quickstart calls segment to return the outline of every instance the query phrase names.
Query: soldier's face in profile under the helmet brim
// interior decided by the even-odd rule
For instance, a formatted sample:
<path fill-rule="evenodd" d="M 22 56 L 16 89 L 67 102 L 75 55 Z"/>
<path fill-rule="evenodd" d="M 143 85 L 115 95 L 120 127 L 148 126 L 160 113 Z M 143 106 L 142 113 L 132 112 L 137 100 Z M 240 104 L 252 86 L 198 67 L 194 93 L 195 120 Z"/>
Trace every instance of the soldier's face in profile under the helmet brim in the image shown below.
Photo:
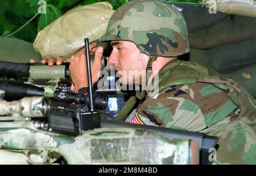
<path fill-rule="evenodd" d="M 113 51 L 109 56 L 109 64 L 115 66 L 122 83 L 141 84 L 146 78 L 148 56 L 141 53 L 131 41 L 118 40 L 111 42 Z"/>

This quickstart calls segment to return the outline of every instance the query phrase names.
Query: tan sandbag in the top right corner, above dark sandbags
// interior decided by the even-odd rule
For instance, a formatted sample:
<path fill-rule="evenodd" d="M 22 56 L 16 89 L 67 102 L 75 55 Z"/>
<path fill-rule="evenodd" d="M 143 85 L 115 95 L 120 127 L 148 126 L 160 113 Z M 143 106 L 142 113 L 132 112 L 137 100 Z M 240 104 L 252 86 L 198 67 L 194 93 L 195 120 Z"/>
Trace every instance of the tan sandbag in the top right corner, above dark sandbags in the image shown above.
<path fill-rule="evenodd" d="M 202 4 L 206 7 L 217 4 L 216 10 L 225 14 L 256 17 L 256 0 L 203 0 Z"/>

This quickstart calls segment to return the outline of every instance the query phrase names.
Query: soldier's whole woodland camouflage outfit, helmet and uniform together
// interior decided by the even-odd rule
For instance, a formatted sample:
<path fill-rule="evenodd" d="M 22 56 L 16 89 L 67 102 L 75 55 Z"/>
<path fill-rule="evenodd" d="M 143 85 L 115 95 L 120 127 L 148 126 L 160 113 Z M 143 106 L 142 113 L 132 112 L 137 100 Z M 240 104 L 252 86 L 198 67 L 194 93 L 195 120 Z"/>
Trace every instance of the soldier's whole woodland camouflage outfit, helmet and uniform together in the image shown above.
<path fill-rule="evenodd" d="M 149 56 L 147 70 L 157 56 L 189 52 L 185 20 L 164 1 L 131 1 L 119 7 L 101 40 L 133 41 Z M 256 106 L 242 87 L 196 63 L 177 59 L 166 64 L 158 77 L 152 82 L 159 81 L 159 87 L 151 87 L 151 97 L 127 121 L 218 136 L 217 164 L 256 164 Z"/>

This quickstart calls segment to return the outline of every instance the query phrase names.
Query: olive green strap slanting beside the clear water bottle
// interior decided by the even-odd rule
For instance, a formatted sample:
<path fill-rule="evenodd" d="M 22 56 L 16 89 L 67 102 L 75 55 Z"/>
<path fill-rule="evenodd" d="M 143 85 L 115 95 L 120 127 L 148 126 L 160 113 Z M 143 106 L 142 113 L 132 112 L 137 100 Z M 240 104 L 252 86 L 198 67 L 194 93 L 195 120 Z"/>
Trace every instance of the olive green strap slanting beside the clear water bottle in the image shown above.
<path fill-rule="evenodd" d="M 119 112 L 115 120 L 125 121 L 126 116 L 131 111 L 131 108 L 133 108 L 136 102 L 137 102 L 137 98 L 135 96 L 131 96 L 129 100 L 127 100 L 127 102 L 125 103 L 125 106 L 123 106 L 122 110 Z"/>

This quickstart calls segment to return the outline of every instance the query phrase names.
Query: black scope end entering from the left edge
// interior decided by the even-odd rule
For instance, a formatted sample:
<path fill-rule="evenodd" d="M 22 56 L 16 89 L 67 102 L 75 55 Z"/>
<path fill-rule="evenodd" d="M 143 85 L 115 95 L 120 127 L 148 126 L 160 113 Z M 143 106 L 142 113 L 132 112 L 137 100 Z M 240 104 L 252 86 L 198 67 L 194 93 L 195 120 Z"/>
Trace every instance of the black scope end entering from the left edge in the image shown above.
<path fill-rule="evenodd" d="M 4 98 L 7 101 L 19 100 L 23 97 L 42 97 L 44 89 L 20 82 L 0 81 L 0 90 L 5 90 Z"/>

